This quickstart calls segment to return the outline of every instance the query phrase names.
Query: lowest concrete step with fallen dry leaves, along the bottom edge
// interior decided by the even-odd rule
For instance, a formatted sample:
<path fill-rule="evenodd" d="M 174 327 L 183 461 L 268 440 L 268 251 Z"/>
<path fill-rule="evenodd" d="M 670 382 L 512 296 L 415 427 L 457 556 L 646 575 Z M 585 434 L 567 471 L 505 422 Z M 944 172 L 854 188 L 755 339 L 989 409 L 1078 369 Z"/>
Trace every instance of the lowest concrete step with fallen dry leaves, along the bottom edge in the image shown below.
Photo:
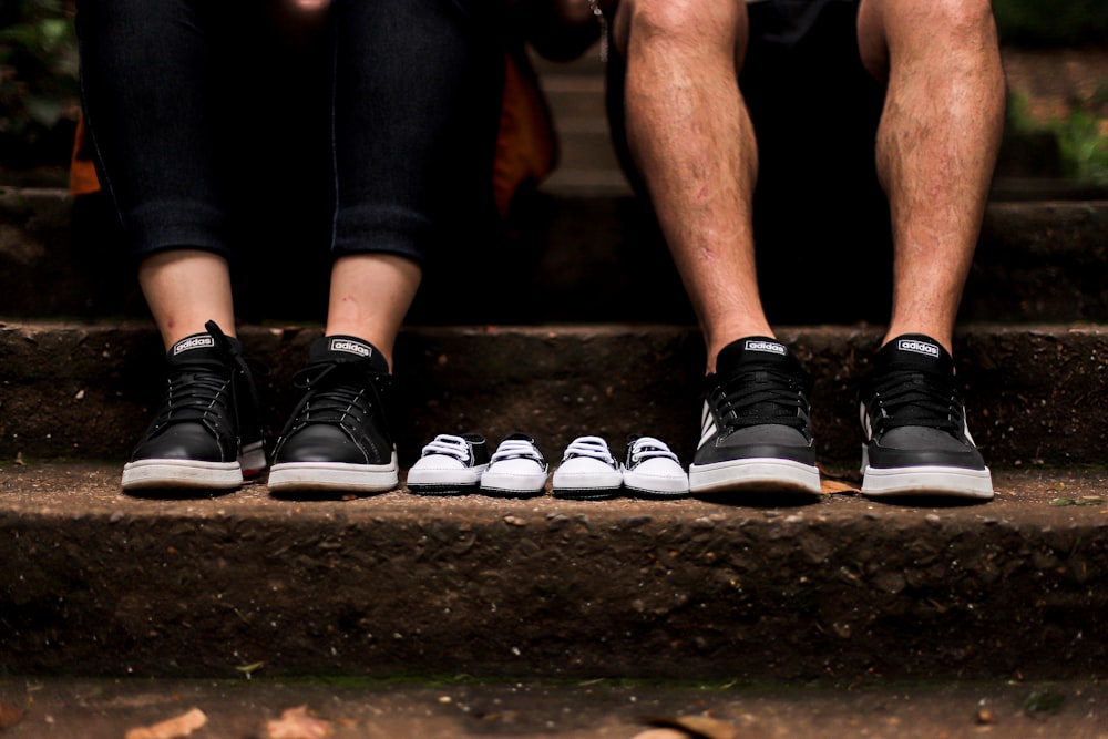
<path fill-rule="evenodd" d="M 770 687 L 733 680 L 506 681 L 464 675 L 271 680 L 261 669 L 249 681 L 9 676 L 0 682 L 0 721 L 7 719 L 0 726 L 20 739 L 120 739 L 137 727 L 198 711 L 204 726 L 189 735 L 193 739 L 265 737 L 281 736 L 268 727 L 293 723 L 278 719 L 299 707 L 305 720 L 326 725 L 329 732 L 298 736 L 334 739 L 934 739 L 981 733 L 1100 739 L 1106 704 L 1108 687 L 1080 679 Z M 646 733 L 649 729 L 654 733 Z"/>

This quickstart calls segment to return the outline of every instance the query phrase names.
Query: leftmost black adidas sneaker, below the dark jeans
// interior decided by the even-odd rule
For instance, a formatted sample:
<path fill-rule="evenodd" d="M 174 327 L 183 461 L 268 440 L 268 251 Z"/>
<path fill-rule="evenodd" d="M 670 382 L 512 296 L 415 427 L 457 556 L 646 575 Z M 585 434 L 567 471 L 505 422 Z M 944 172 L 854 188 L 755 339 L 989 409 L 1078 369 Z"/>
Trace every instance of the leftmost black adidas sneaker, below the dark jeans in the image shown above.
<path fill-rule="evenodd" d="M 243 345 L 214 321 L 166 352 L 157 415 L 123 468 L 124 491 L 230 490 L 266 466 L 255 372 Z"/>

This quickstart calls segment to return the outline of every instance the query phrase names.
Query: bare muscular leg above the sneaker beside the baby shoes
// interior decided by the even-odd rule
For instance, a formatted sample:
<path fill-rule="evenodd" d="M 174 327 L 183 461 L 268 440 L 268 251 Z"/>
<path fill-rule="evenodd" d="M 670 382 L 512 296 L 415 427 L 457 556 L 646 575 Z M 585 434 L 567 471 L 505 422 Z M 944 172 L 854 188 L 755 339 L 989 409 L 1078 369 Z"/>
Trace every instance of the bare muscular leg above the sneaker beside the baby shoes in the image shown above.
<path fill-rule="evenodd" d="M 751 202 L 753 126 L 738 88 L 741 0 L 624 0 L 632 155 L 704 332 L 708 371 L 745 336 L 773 336 L 758 294 Z"/>

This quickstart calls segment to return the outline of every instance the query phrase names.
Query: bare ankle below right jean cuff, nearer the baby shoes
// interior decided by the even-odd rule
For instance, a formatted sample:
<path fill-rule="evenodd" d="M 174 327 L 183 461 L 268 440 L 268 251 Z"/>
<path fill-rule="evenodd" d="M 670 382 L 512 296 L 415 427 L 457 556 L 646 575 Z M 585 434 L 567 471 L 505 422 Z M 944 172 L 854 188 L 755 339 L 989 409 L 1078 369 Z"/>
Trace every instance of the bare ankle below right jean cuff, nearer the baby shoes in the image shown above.
<path fill-rule="evenodd" d="M 411 259 L 384 254 L 339 257 L 331 269 L 327 335 L 372 343 L 392 367 L 392 350 L 422 270 Z"/>

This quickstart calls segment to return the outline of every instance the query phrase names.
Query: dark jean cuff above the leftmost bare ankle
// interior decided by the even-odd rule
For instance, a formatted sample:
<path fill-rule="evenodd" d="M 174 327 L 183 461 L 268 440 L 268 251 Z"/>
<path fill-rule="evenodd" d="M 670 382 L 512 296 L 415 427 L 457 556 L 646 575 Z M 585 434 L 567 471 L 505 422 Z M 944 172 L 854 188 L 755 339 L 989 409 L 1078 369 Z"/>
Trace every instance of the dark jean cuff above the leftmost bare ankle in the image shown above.
<path fill-rule="evenodd" d="M 136 258 L 167 249 L 197 249 L 234 259 L 223 212 L 191 201 L 157 201 L 124 214 Z"/>

